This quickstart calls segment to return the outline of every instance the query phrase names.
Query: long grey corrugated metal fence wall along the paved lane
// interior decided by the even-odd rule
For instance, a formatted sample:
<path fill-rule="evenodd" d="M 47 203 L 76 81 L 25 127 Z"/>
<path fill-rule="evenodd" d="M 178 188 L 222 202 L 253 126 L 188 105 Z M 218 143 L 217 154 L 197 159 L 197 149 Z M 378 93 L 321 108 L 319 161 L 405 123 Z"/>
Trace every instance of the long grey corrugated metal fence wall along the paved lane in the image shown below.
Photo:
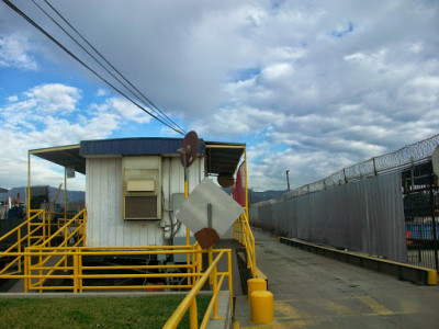
<path fill-rule="evenodd" d="M 258 203 L 250 207 L 250 224 L 316 243 L 407 261 L 399 172 Z"/>

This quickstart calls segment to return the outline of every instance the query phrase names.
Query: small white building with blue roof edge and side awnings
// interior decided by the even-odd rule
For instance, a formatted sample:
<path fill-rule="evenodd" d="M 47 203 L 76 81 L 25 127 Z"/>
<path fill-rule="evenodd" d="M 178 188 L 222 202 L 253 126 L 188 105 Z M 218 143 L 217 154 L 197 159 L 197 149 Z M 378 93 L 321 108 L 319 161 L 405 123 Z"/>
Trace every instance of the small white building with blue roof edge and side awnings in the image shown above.
<path fill-rule="evenodd" d="M 184 198 L 181 144 L 181 138 L 83 140 L 29 152 L 86 174 L 87 246 L 162 246 L 184 236 L 175 216 Z M 244 154 L 245 144 L 200 140 L 189 192 L 204 177 L 234 174 Z"/>

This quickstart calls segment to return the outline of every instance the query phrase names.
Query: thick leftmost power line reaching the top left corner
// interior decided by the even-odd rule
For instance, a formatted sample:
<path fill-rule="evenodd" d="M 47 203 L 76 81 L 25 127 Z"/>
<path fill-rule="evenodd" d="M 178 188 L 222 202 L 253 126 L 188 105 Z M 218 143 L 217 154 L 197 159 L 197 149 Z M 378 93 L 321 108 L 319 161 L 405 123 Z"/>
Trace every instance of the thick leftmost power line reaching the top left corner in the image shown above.
<path fill-rule="evenodd" d="M 60 44 L 56 38 L 54 38 L 49 33 L 47 33 L 43 27 L 41 27 L 37 23 L 35 23 L 31 18 L 29 18 L 24 12 L 22 12 L 19 8 L 16 8 L 13 3 L 11 3 L 9 0 L 3 0 L 3 2 L 9 5 L 13 11 L 15 11 L 19 15 L 21 15 L 24 20 L 26 20 L 31 25 L 33 25 L 36 30 L 38 30 L 41 33 L 43 33 L 46 37 L 48 37 L 53 43 L 55 43 L 58 47 L 60 47 L 65 53 L 67 53 L 70 57 L 72 57 L 75 60 L 77 60 L 79 64 L 81 64 L 85 68 L 87 68 L 89 71 L 91 71 L 94 76 L 97 76 L 99 79 L 101 79 L 103 82 L 105 82 L 110 88 L 119 92 L 121 95 L 126 98 L 128 101 L 131 101 L 133 104 L 135 104 L 138 109 L 157 120 L 158 122 L 162 123 L 167 127 L 171 128 L 178 134 L 184 135 L 184 133 L 180 129 L 177 129 L 176 127 L 171 126 L 170 124 L 164 122 L 161 118 L 159 118 L 157 115 L 150 113 L 148 110 L 146 110 L 144 106 L 132 100 L 128 95 L 126 95 L 124 92 L 122 92 L 120 89 L 117 89 L 115 86 L 113 86 L 110 81 L 101 77 L 97 71 L 94 71 L 91 67 L 89 67 L 86 63 L 83 63 L 80 58 L 78 58 L 75 54 L 72 54 L 69 49 L 67 49 L 63 44 Z"/>

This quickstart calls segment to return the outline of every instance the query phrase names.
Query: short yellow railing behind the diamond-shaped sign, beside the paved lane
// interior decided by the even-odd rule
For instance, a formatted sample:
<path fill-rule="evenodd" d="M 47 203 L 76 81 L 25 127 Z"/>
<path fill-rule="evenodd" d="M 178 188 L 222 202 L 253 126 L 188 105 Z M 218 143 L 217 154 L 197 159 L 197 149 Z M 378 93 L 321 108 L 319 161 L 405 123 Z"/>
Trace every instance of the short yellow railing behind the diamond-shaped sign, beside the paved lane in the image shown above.
<path fill-rule="evenodd" d="M 251 270 L 251 274 L 256 277 L 256 250 L 255 237 L 248 223 L 246 212 L 244 212 L 234 223 L 234 238 L 246 247 L 247 268 Z"/>

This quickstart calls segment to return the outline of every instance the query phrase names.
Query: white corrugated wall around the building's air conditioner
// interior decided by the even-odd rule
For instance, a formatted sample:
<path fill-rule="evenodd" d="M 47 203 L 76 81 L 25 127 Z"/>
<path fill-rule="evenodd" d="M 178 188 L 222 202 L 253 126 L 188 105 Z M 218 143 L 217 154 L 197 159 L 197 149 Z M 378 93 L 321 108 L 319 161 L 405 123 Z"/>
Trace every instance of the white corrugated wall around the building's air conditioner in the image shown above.
<path fill-rule="evenodd" d="M 184 170 L 179 157 L 162 157 L 164 219 L 170 224 L 170 197 L 184 193 Z M 189 168 L 192 191 L 204 178 L 204 158 Z M 122 219 L 122 158 L 88 158 L 86 175 L 87 246 L 165 245 L 160 220 Z M 184 236 L 182 225 L 177 236 Z"/>

